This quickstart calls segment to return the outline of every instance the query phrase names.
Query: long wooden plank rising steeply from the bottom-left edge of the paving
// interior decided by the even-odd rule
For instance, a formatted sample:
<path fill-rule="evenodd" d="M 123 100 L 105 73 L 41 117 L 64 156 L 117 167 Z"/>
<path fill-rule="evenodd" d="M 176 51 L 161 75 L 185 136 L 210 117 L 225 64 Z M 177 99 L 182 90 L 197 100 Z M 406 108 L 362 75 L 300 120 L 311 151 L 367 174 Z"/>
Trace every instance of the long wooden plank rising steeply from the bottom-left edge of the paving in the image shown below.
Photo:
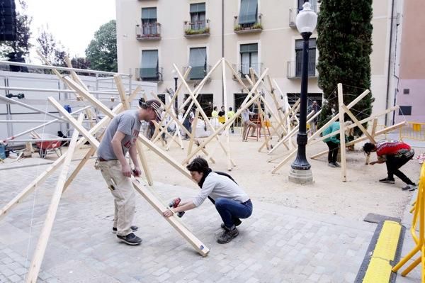
<path fill-rule="evenodd" d="M 84 115 L 80 114 L 77 123 L 81 125 L 83 118 Z M 65 179 L 67 178 L 67 174 L 69 171 L 69 165 L 71 164 L 72 155 L 74 155 L 74 150 L 77 145 L 78 134 L 79 133 L 77 129 L 74 129 L 74 133 L 72 133 L 71 143 L 69 143 L 67 157 L 65 157 L 64 164 L 62 165 L 62 171 L 60 172 L 55 192 L 53 192 L 52 201 L 50 202 L 49 209 L 47 210 L 47 216 L 45 218 L 45 222 L 43 223 L 40 237 L 38 238 L 37 246 L 35 247 L 33 260 L 31 261 L 26 277 L 27 283 L 37 282 L 38 272 L 40 272 L 41 262 L 45 255 L 47 242 L 50 238 L 50 233 L 53 228 L 53 222 L 55 221 L 57 207 L 60 203 L 60 197 L 62 196 L 62 190 L 64 188 Z"/>

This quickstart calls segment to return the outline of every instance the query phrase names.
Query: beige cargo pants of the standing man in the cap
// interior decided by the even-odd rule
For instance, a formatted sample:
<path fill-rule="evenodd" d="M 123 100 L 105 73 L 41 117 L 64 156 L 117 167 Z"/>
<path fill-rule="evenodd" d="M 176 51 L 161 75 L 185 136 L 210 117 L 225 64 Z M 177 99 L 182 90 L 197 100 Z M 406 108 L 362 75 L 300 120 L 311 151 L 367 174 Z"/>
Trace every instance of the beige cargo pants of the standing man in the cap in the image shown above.
<path fill-rule="evenodd" d="M 123 176 L 118 160 L 99 161 L 98 168 L 113 195 L 115 204 L 113 227 L 117 228 L 117 235 L 128 235 L 132 233 L 130 227 L 135 216 L 135 189 L 130 178 Z"/>

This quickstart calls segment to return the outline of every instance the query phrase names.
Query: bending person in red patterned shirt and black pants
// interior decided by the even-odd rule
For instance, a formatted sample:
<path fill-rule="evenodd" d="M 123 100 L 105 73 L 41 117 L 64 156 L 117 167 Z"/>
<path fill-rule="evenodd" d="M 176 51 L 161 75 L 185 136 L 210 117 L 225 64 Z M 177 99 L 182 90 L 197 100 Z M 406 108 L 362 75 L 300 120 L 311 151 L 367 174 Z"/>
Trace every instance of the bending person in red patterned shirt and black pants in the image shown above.
<path fill-rule="evenodd" d="M 379 182 L 394 184 L 394 175 L 396 175 L 407 184 L 407 186 L 402 189 L 408 189 L 409 191 L 414 191 L 414 189 L 416 189 L 416 184 L 399 170 L 399 168 L 411 160 L 414 155 L 414 150 L 410 145 L 399 142 L 398 140 L 381 140 L 376 144 L 365 143 L 363 145 L 363 150 L 368 155 L 370 155 L 370 152 L 376 152 L 378 160 L 370 162 L 370 165 L 384 162 L 387 165 L 388 176 L 385 179 L 380 179 Z"/>

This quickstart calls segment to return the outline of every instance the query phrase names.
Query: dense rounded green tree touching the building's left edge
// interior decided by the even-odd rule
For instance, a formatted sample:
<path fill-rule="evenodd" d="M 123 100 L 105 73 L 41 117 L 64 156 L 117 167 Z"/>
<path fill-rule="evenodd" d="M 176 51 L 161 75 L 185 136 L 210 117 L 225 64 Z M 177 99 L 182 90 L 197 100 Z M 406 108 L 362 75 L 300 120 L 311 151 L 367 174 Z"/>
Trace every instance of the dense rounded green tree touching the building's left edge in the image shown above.
<path fill-rule="evenodd" d="M 103 24 L 94 33 L 86 49 L 87 60 L 91 62 L 91 68 L 107 72 L 117 72 L 117 30 L 115 20 Z"/>

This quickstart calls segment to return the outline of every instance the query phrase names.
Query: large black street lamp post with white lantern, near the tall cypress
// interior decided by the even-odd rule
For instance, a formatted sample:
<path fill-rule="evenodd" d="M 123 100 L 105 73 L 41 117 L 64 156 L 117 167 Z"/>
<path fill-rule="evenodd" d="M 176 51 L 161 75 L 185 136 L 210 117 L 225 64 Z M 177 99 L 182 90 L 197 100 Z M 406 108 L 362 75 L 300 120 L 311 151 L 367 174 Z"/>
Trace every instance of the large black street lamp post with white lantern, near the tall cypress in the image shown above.
<path fill-rule="evenodd" d="M 301 101 L 300 101 L 300 125 L 297 134 L 297 157 L 290 165 L 289 180 L 299 184 L 311 184 L 313 175 L 311 165 L 305 157 L 305 145 L 307 145 L 307 86 L 308 86 L 308 40 L 314 28 L 316 28 L 317 14 L 310 9 L 310 3 L 305 1 L 302 10 L 297 15 L 296 25 L 300 32 L 302 44 L 302 69 L 301 69 Z"/>

